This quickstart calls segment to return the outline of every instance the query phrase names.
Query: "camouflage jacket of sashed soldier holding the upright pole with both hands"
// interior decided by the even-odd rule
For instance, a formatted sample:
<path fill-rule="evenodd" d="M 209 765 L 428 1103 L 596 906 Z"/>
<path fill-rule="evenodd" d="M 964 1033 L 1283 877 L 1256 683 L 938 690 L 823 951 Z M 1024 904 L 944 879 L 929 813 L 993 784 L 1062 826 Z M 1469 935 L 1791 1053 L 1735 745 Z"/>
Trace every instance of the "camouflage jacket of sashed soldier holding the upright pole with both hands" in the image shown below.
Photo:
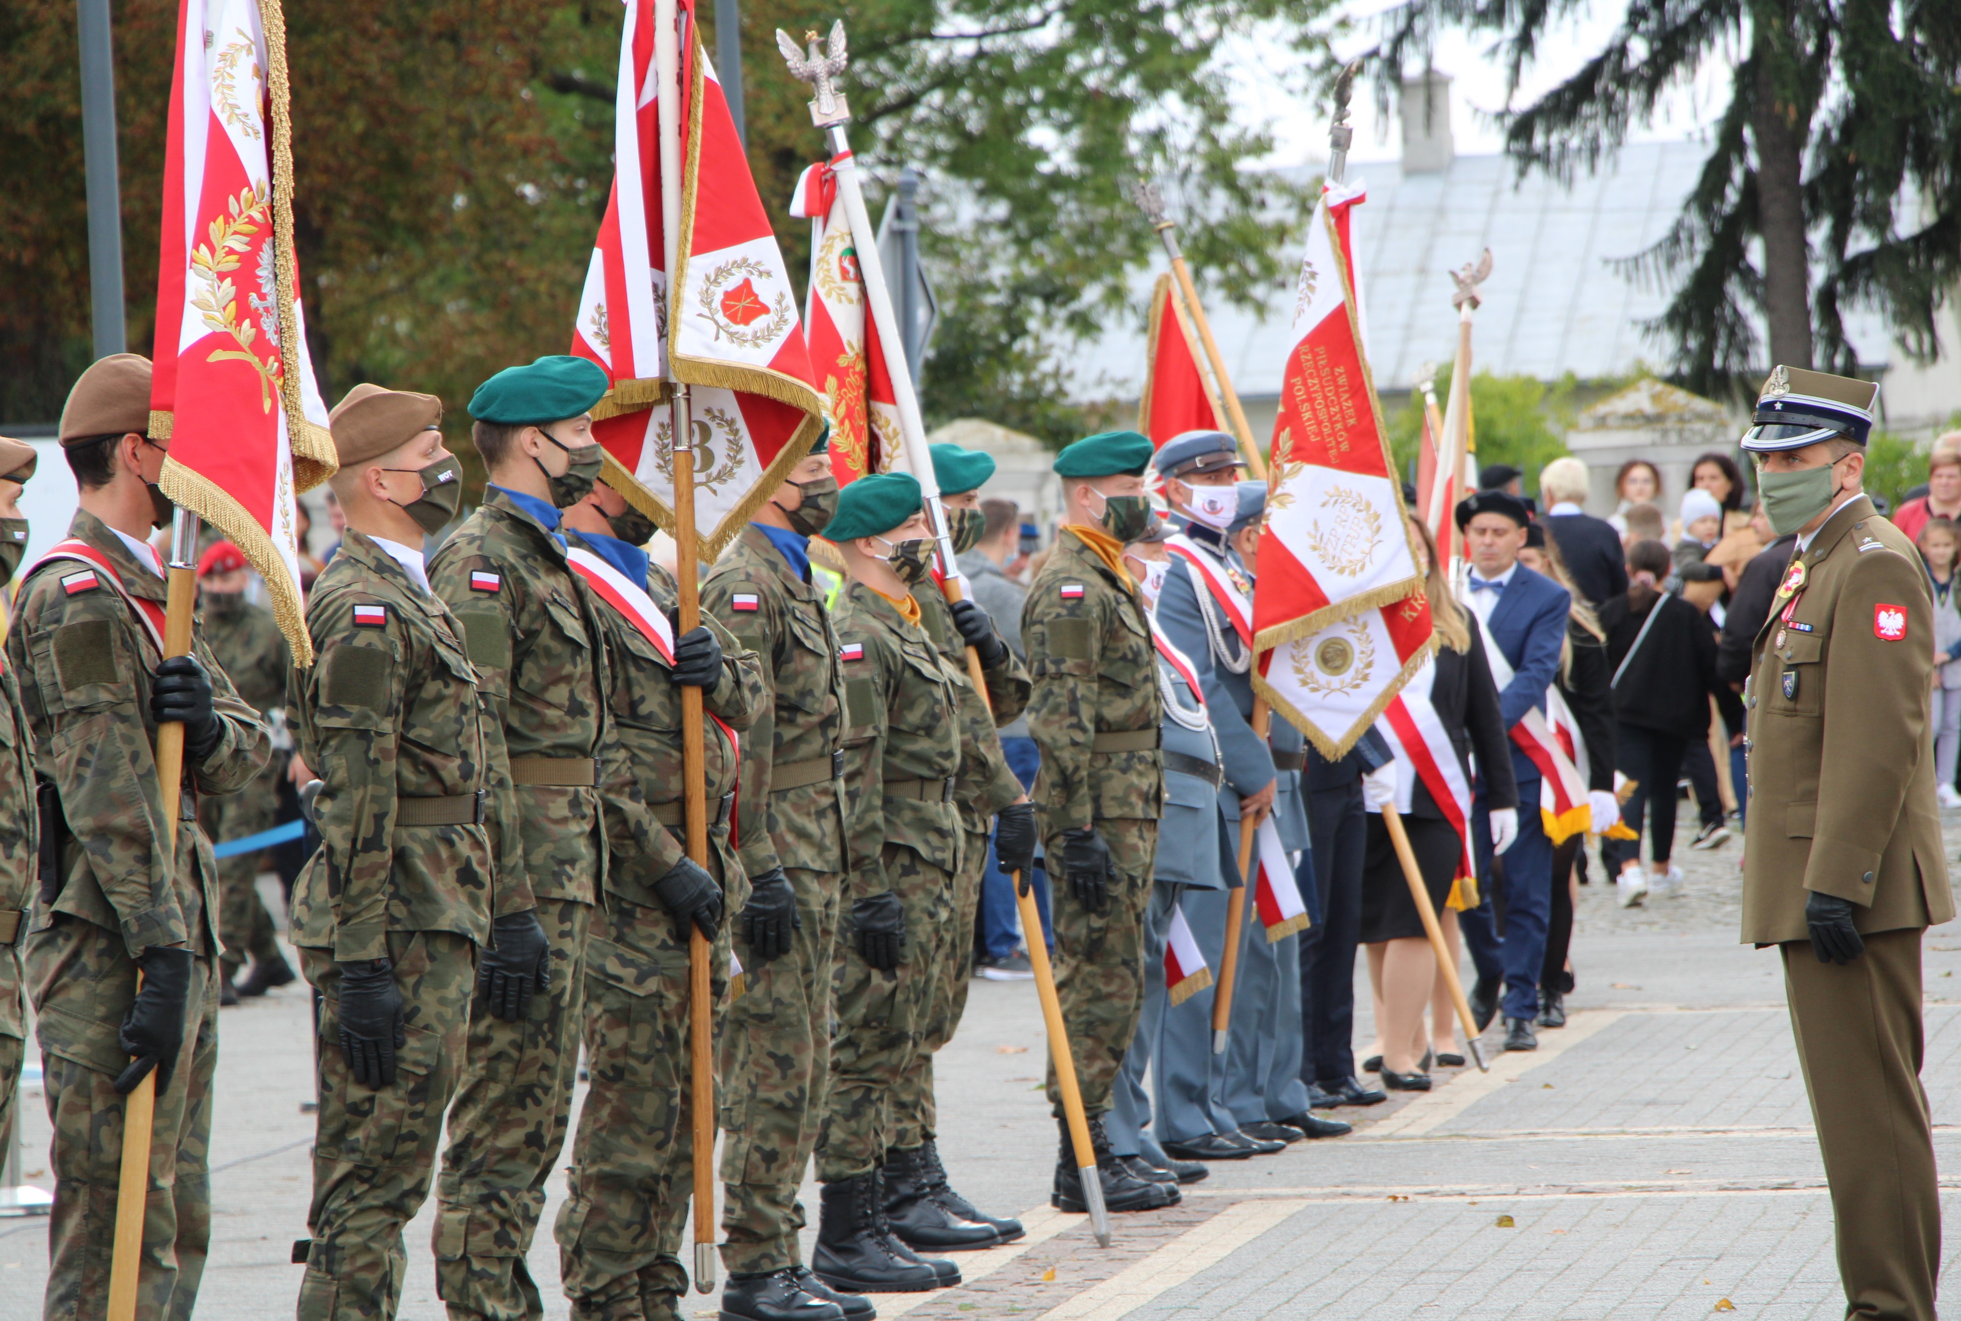
<path fill-rule="evenodd" d="M 567 533 L 580 545 L 578 533 Z M 669 619 L 680 606 L 675 578 L 659 564 L 647 566 L 647 596 Z M 686 823 L 682 819 L 680 774 L 680 688 L 673 682 L 673 664 L 661 657 L 639 627 L 596 592 L 592 615 L 606 645 L 606 704 L 612 708 L 610 735 L 602 755 L 602 796 L 606 802 L 606 890 L 631 904 L 657 905 L 653 882 L 686 856 Z M 706 715 L 720 715 L 737 735 L 749 729 L 755 711 L 769 700 L 763 684 L 763 664 L 728 629 L 702 615 L 702 623 L 722 643 L 722 678 L 702 690 L 702 776 L 708 790 L 708 811 L 714 825 L 708 845 L 714 855 L 710 870 L 722 872 L 722 892 L 728 909 L 749 902 L 749 882 L 729 845 L 729 823 L 724 813 L 733 809 L 737 790 L 739 749 L 729 735 Z"/>

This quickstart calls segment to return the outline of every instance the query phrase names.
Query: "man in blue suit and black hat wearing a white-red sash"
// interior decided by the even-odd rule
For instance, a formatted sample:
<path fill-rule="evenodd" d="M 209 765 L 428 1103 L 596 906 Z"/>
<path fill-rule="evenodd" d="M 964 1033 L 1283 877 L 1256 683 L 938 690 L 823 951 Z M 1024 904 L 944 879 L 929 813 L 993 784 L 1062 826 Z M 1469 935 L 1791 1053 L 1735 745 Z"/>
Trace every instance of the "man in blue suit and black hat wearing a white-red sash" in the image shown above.
<path fill-rule="evenodd" d="M 1465 606 L 1483 625 L 1506 729 L 1534 708 L 1545 713 L 1545 688 L 1559 672 L 1559 647 L 1573 606 L 1563 586 L 1518 563 L 1530 521 L 1524 500 L 1504 490 L 1481 490 L 1457 506 L 1457 531 L 1471 561 Z M 1504 678 L 1506 672 L 1510 678 Z M 1479 1025 L 1490 1021 L 1502 978 L 1504 1049 L 1535 1051 L 1539 1041 L 1532 1023 L 1539 1015 L 1539 964 L 1545 960 L 1553 904 L 1553 843 L 1539 823 L 1539 768 L 1516 745 L 1512 774 L 1518 776 L 1518 811 L 1488 809 L 1479 786 L 1473 829 L 1484 894 L 1479 907 L 1463 913 L 1461 925 L 1479 972 L 1473 994 Z M 1490 907 L 1490 858 L 1496 853 L 1504 855 L 1502 937 Z"/>

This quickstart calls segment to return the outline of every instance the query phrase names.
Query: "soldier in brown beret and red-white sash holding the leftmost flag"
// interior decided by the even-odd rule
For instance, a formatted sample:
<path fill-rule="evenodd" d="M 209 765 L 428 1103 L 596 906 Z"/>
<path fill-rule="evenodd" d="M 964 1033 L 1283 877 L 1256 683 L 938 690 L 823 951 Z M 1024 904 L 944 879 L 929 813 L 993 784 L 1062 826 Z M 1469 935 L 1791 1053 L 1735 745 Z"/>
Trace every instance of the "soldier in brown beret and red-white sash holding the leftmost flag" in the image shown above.
<path fill-rule="evenodd" d="M 269 751 L 202 639 L 163 660 L 163 561 L 141 539 L 171 521 L 155 486 L 167 445 L 145 435 L 149 376 L 149 359 L 118 353 L 75 382 L 61 445 L 80 510 L 27 572 L 6 639 L 43 782 L 25 964 L 55 1125 L 47 1317 L 108 1311 L 124 1096 L 151 1070 L 135 1309 L 186 1321 L 196 1305 L 218 1068 L 218 864 L 196 798 L 243 788 Z M 184 725 L 175 804 L 159 800 L 161 721 Z M 165 811 L 178 821 L 169 855 L 155 835 Z"/>

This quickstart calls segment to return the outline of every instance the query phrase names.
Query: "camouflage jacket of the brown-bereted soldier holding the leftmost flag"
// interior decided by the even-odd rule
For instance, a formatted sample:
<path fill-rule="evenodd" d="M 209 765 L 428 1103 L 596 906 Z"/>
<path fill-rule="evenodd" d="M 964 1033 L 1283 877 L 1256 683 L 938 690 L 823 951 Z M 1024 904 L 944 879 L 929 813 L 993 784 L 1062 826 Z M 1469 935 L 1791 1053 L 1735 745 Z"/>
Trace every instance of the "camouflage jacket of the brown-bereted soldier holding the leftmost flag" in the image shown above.
<path fill-rule="evenodd" d="M 100 551 L 131 596 L 163 606 L 163 578 L 137 564 L 108 523 L 78 510 L 69 535 Z M 196 800 L 233 794 L 265 768 L 265 725 L 194 637 L 224 729 L 204 760 L 186 757 L 180 800 L 161 802 L 149 682 L 163 657 L 135 608 L 110 584 L 84 582 L 88 572 L 76 561 L 29 572 L 6 639 L 33 729 L 35 772 L 59 792 L 69 831 L 57 862 L 59 894 L 37 904 L 35 925 L 73 913 L 122 931 L 131 956 L 151 945 L 210 954 L 218 949 L 218 864 Z M 167 811 L 178 821 L 173 855 L 155 843 L 167 837 Z"/>

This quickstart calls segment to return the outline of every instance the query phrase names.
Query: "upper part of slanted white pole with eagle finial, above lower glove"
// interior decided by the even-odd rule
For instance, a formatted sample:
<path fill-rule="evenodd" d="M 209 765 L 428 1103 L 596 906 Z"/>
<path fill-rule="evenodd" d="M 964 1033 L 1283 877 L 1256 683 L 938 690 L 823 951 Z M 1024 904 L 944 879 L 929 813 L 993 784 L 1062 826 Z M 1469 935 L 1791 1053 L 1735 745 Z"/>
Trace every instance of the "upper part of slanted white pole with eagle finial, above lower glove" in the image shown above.
<path fill-rule="evenodd" d="M 920 416 L 920 392 L 914 388 L 912 363 L 906 361 L 906 339 L 898 333 L 898 314 L 892 310 L 892 288 L 884 280 L 884 263 L 879 257 L 879 231 L 873 229 L 871 212 L 865 208 L 865 190 L 859 186 L 857 159 L 851 155 L 851 139 L 845 125 L 851 123 L 851 106 L 837 90 L 835 78 L 845 71 L 845 25 L 843 20 L 831 24 L 831 35 L 824 47 L 818 33 L 806 31 L 808 53 L 796 49 L 790 33 L 777 29 L 777 49 L 796 78 L 812 84 L 816 98 L 810 102 L 810 122 L 824 129 L 824 141 L 831 151 L 831 176 L 837 180 L 837 196 L 845 204 L 845 221 L 851 225 L 851 247 L 857 251 L 859 278 L 865 280 L 865 304 L 871 308 L 873 327 L 884 347 L 886 365 L 896 363 L 892 376 L 892 404 L 898 408 L 900 453 L 906 457 L 906 470 L 920 482 L 926 500 L 926 519 L 931 523 L 933 541 L 939 549 L 939 590 L 949 602 L 967 600 L 961 586 L 959 563 L 953 559 L 953 529 L 947 523 L 947 510 L 939 502 L 939 480 L 933 476 L 933 457 L 926 451 L 926 421 Z M 980 670 L 980 653 L 967 649 L 967 676 L 975 692 L 986 700 L 986 676 Z"/>

